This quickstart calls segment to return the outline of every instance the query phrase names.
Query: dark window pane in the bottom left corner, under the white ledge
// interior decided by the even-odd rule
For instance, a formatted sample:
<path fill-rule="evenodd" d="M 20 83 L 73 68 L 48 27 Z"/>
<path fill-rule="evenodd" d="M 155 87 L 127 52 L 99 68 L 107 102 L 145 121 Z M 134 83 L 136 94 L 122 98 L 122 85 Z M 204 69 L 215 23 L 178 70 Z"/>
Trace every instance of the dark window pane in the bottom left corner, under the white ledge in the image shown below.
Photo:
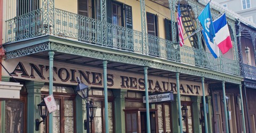
<path fill-rule="evenodd" d="M 24 103 L 21 101 L 5 101 L 5 132 L 24 132 Z"/>

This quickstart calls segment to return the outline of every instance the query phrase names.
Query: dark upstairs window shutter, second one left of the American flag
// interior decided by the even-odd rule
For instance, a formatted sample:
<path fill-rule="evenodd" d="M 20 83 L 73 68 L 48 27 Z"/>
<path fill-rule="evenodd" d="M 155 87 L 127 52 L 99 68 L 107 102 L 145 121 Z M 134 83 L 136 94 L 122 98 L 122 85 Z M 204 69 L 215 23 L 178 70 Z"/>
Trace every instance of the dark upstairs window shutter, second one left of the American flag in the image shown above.
<path fill-rule="evenodd" d="M 156 36 L 156 18 L 155 15 L 152 13 L 146 13 L 146 24 L 148 27 L 148 34 Z"/>

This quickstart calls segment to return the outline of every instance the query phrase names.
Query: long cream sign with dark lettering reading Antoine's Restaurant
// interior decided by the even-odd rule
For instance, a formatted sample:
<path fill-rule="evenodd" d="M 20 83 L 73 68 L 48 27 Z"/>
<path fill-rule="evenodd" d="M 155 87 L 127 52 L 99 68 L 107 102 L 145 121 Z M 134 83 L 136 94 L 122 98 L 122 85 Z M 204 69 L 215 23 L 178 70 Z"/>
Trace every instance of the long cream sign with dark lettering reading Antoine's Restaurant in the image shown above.
<path fill-rule="evenodd" d="M 49 66 L 47 60 L 22 57 L 19 60 L 3 62 L 7 70 L 17 79 L 49 82 Z M 103 68 L 94 68 L 65 62 L 53 61 L 53 82 L 77 85 L 76 76 L 90 87 L 103 88 Z M 3 75 L 8 75 L 3 71 Z M 149 91 L 177 92 L 176 80 L 164 77 L 148 76 Z M 180 92 L 185 95 L 202 96 L 201 83 L 180 80 Z M 107 70 L 107 87 L 112 89 L 145 90 L 143 74 L 126 73 Z M 207 87 L 205 87 L 207 88 Z M 207 90 L 206 90 L 207 94 Z"/>

